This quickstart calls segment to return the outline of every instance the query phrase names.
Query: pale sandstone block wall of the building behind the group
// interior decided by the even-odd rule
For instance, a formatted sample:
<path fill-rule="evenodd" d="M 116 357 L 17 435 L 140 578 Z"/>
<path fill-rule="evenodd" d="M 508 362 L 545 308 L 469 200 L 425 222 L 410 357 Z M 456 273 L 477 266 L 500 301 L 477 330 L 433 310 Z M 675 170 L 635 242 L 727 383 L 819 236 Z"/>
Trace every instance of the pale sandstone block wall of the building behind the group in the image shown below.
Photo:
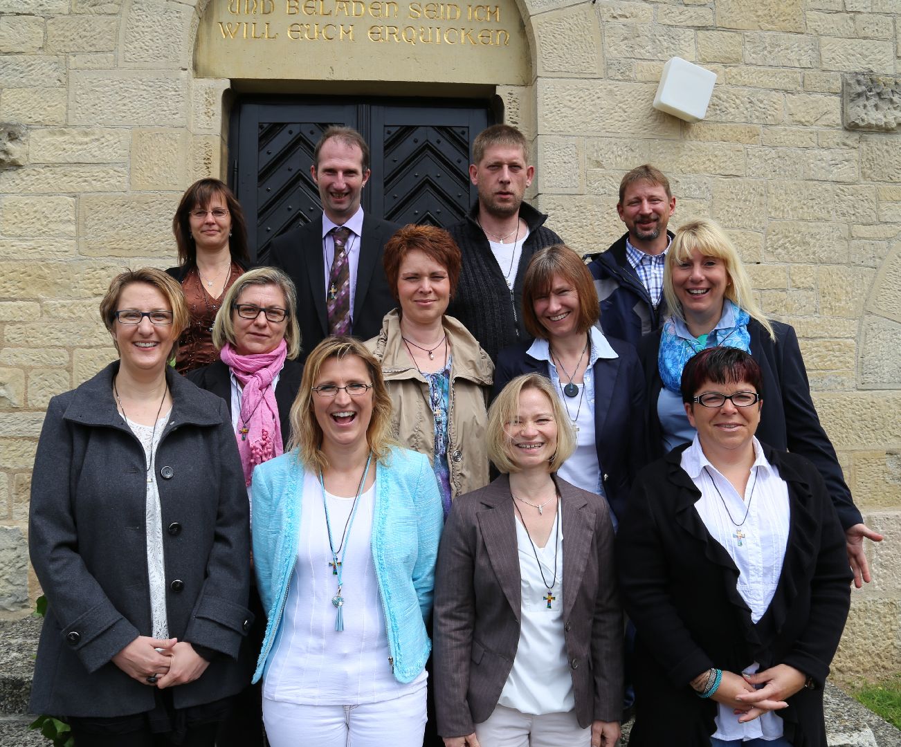
<path fill-rule="evenodd" d="M 205 5 L 0 0 L 0 609 L 11 615 L 39 593 L 24 553 L 48 399 L 114 355 L 96 314 L 109 278 L 172 264 L 178 196 L 223 176 L 230 82 L 193 71 Z M 869 548 L 876 581 L 854 593 L 836 671 L 901 671 L 901 2 L 518 6 L 532 77 L 498 94 L 534 143 L 532 198 L 576 249 L 598 251 L 622 232 L 619 178 L 651 161 L 672 179 L 675 223 L 710 216 L 732 232 L 764 309 L 796 326 L 855 499 L 889 538 Z M 314 62 L 312 49 L 298 62 Z M 677 55 L 717 75 L 702 122 L 651 108 Z"/>

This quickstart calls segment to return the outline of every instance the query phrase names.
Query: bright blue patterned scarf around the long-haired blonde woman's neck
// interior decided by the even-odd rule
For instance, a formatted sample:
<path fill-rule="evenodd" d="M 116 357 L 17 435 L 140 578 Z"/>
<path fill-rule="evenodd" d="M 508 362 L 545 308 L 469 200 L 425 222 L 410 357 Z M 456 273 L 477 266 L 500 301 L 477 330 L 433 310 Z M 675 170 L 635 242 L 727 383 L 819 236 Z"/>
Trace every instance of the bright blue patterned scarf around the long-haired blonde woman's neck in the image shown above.
<path fill-rule="evenodd" d="M 723 303 L 723 314 L 714 329 L 707 335 L 705 343 L 698 341 L 688 332 L 684 323 L 669 317 L 663 323 L 660 333 L 660 351 L 657 354 L 657 368 L 660 379 L 669 391 L 681 391 L 682 369 L 688 359 L 705 348 L 725 346 L 751 352 L 751 334 L 748 333 L 750 314 L 734 305 L 729 299 Z"/>

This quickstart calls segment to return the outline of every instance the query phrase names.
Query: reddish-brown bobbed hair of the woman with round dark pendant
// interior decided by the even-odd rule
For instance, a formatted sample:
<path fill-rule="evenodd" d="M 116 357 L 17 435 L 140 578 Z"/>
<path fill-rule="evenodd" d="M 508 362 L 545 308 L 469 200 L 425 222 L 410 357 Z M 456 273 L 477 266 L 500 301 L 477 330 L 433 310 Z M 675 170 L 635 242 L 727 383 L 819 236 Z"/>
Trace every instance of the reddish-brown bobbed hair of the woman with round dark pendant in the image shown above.
<path fill-rule="evenodd" d="M 551 289 L 555 276 L 572 283 L 578 294 L 578 331 L 587 332 L 600 313 L 595 281 L 585 261 L 566 244 L 553 244 L 536 251 L 523 278 L 523 323 L 532 337 L 548 339 L 548 331 L 535 314 L 535 299 Z"/>

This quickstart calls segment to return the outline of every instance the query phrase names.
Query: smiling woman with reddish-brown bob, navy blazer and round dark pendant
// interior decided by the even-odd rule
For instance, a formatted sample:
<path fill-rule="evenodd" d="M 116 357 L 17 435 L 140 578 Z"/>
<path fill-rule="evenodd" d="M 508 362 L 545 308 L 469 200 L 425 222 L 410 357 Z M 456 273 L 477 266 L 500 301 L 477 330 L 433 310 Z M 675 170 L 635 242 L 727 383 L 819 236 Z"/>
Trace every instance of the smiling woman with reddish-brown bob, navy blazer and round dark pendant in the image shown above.
<path fill-rule="evenodd" d="M 575 251 L 557 244 L 536 253 L 523 281 L 523 323 L 536 339 L 500 352 L 494 393 L 524 373 L 551 379 L 578 437 L 560 476 L 605 496 L 615 522 L 646 463 L 644 374 L 633 346 L 596 326 L 598 314 L 591 273 Z"/>

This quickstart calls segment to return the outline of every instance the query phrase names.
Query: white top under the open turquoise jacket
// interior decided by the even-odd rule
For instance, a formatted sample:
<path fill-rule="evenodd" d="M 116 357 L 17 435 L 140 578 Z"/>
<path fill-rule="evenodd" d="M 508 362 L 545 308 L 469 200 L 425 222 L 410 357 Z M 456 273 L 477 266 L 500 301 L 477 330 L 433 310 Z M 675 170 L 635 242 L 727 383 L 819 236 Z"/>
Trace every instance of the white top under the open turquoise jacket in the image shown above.
<path fill-rule="evenodd" d="M 272 648 L 263 696 L 310 706 L 350 706 L 392 700 L 424 687 L 425 671 L 409 684 L 395 679 L 388 662 L 385 613 L 370 550 L 378 481 L 359 496 L 357 515 L 344 540 L 341 563 L 344 630 L 335 630 L 332 597 L 338 577 L 318 475 L 308 470 L 301 499 L 297 563 Z M 353 497 L 326 493 L 335 550 L 350 516 Z M 339 553 L 341 560 L 341 553 Z"/>

